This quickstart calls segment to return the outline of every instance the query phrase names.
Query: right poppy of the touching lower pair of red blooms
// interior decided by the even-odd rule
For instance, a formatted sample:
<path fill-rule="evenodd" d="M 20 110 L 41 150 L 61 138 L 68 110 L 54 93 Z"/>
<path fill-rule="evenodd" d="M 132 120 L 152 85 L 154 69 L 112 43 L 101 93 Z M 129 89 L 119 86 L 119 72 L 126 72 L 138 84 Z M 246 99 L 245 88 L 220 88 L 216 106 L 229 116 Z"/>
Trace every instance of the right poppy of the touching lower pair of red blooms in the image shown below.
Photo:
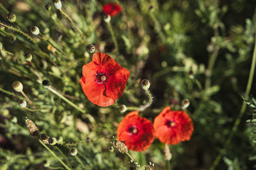
<path fill-rule="evenodd" d="M 168 145 L 188 141 L 194 131 L 193 122 L 186 111 L 171 111 L 170 106 L 154 120 L 155 136 Z"/>

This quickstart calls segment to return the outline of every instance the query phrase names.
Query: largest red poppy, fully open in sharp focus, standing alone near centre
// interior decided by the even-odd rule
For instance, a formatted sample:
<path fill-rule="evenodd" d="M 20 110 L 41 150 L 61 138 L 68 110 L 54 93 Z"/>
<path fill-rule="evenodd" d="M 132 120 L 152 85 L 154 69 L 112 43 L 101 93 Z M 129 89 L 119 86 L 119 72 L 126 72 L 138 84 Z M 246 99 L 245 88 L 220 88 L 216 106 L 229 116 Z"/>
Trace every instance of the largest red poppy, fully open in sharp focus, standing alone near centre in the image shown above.
<path fill-rule="evenodd" d="M 122 96 L 129 76 L 129 70 L 121 67 L 108 54 L 95 53 L 92 62 L 83 66 L 79 83 L 89 101 L 106 107 Z"/>

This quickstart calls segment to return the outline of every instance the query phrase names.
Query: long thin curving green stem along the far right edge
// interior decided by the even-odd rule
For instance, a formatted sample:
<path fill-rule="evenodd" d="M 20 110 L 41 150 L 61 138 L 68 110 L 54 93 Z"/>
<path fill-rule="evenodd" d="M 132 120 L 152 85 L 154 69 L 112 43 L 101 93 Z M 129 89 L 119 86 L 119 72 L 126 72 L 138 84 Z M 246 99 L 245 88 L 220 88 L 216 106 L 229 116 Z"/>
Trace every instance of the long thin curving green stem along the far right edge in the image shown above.
<path fill-rule="evenodd" d="M 230 132 L 228 139 L 225 142 L 225 145 L 223 146 L 223 148 L 221 149 L 220 153 L 218 154 L 218 156 L 216 157 L 216 159 L 214 160 L 210 170 L 214 170 L 216 168 L 216 166 L 218 166 L 223 153 L 225 152 L 227 146 L 230 144 L 232 137 L 234 136 L 235 132 L 237 131 L 237 127 L 239 126 L 240 122 L 241 122 L 241 118 L 243 117 L 245 110 L 246 110 L 246 101 L 249 97 L 250 94 L 250 90 L 252 88 L 252 82 L 253 82 L 253 76 L 254 76 L 254 72 L 255 72 L 255 65 L 256 65 L 256 34 L 255 34 L 255 45 L 254 45 L 254 49 L 253 49 L 253 57 L 252 57 L 252 64 L 251 64 L 251 69 L 250 69 L 250 74 L 249 74 L 249 78 L 248 78 L 248 82 L 247 82 L 247 86 L 246 86 L 246 91 L 244 94 L 244 101 L 243 101 L 243 105 L 242 108 L 240 110 L 240 113 L 236 119 L 235 124 L 232 127 L 232 131 Z"/>

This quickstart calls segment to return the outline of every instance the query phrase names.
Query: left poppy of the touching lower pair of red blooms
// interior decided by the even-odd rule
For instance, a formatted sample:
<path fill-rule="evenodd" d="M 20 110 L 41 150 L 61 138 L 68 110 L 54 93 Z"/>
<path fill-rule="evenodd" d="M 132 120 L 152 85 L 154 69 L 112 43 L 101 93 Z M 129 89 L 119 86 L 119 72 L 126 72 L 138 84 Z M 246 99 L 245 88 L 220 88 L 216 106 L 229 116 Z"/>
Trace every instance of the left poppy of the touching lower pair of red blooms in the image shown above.
<path fill-rule="evenodd" d="M 147 118 L 140 117 L 138 111 L 132 111 L 118 125 L 117 138 L 124 141 L 129 150 L 147 150 L 154 141 L 153 124 Z"/>

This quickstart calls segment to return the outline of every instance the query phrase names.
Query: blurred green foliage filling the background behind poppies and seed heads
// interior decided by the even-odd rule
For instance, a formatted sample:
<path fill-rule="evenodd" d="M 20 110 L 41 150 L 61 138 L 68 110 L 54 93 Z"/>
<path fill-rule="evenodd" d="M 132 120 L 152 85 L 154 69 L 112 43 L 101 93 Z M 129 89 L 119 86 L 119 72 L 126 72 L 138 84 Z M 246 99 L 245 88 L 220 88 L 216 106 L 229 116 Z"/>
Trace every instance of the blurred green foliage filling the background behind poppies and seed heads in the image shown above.
<path fill-rule="evenodd" d="M 40 132 L 60 142 L 77 143 L 76 158 L 67 147 L 58 146 L 61 154 L 56 146 L 48 146 L 72 169 L 129 169 L 129 157 L 108 148 L 119 122 L 129 113 L 120 113 L 118 104 L 147 102 L 141 78 L 150 80 L 154 96 L 152 106 L 140 112 L 143 117 L 153 121 L 168 105 L 181 110 L 183 99 L 191 103 L 186 110 L 195 131 L 190 141 L 170 146 L 172 169 L 255 168 L 255 105 L 248 97 L 256 92 L 255 81 L 248 89 L 255 1 L 120 1 L 123 11 L 110 22 L 118 50 L 102 13 L 102 5 L 110 1 L 61 1 L 63 11 L 86 40 L 50 0 L 0 2 L 0 22 L 20 26 L 33 39 L 7 27 L 0 31 L 0 169 L 64 169 L 38 139 L 29 136 L 27 117 Z M 45 9 L 47 4 L 51 10 Z M 10 11 L 17 17 L 15 23 L 6 19 Z M 53 52 L 49 42 L 31 34 L 33 25 L 61 52 Z M 131 72 L 124 94 L 108 108 L 90 103 L 79 84 L 83 65 L 92 60 L 86 51 L 88 43 Z M 24 58 L 28 52 L 33 55 L 32 66 Z M 45 88 L 40 77 L 80 110 Z M 23 96 L 13 90 L 13 81 L 22 82 L 38 111 L 19 107 L 17 101 Z M 242 108 L 241 96 L 250 104 L 247 110 L 245 104 Z M 28 108 L 33 110 L 29 104 Z M 155 139 L 147 151 L 129 153 L 140 164 L 138 169 L 149 162 L 155 164 L 154 169 L 166 169 L 163 148 Z"/>

